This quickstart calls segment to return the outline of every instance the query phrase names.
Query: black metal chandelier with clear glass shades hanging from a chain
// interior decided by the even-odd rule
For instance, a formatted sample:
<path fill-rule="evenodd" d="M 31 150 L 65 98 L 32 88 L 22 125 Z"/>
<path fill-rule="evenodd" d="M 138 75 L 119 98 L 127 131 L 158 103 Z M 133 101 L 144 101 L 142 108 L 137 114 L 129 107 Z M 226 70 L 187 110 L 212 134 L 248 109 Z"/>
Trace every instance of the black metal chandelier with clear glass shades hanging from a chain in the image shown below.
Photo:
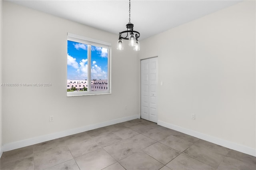
<path fill-rule="evenodd" d="M 140 37 L 140 33 L 137 31 L 133 30 L 133 24 L 130 22 L 130 17 L 131 17 L 131 1 L 129 0 L 129 22 L 126 24 L 126 31 L 119 32 L 119 39 L 117 41 L 117 49 L 118 50 L 123 50 L 123 40 L 129 40 L 129 45 L 133 47 L 135 51 L 140 50 L 140 43 L 138 41 L 138 38 Z M 123 37 L 122 34 L 126 33 L 126 37 Z M 130 36 L 128 38 L 128 33 L 130 33 Z M 134 35 L 135 34 L 135 35 Z"/>

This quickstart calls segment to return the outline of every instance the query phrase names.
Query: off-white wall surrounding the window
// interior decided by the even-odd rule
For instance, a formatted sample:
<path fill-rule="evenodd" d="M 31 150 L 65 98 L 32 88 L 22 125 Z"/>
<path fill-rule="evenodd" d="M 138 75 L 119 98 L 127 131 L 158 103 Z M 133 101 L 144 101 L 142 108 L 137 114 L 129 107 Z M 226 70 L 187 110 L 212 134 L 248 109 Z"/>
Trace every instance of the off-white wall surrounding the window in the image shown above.
<path fill-rule="evenodd" d="M 112 43 L 112 94 L 66 96 L 67 32 Z M 3 83 L 52 84 L 3 87 L 4 146 L 23 146 L 23 140 L 138 117 L 138 89 L 130 86 L 138 84 L 138 71 L 133 69 L 138 67 L 137 53 L 129 48 L 116 50 L 118 34 L 4 1 L 2 36 Z"/>

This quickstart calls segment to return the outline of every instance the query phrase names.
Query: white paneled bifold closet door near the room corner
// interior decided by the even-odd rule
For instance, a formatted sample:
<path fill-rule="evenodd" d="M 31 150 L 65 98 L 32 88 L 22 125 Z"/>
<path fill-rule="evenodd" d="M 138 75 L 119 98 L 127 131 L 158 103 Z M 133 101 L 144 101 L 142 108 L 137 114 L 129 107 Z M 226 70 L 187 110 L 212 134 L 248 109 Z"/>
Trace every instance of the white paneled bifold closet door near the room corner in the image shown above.
<path fill-rule="evenodd" d="M 157 123 L 158 58 L 141 60 L 141 118 Z"/>

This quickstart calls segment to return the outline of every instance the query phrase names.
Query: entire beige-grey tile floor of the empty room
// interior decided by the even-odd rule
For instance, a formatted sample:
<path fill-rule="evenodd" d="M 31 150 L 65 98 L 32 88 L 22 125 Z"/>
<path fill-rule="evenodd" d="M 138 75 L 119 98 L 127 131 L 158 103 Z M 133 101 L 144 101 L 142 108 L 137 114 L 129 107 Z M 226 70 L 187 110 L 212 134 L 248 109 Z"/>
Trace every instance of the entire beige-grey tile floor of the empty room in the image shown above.
<path fill-rule="evenodd" d="M 256 170 L 256 157 L 143 119 L 4 152 L 1 170 Z"/>

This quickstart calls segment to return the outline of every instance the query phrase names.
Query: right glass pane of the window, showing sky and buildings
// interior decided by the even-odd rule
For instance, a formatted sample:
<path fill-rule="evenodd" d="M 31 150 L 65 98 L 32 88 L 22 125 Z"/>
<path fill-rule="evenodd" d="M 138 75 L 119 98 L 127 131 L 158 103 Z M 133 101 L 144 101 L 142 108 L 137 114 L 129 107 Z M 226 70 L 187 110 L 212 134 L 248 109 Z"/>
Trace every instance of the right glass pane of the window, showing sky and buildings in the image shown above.
<path fill-rule="evenodd" d="M 104 90 L 96 88 L 97 84 L 107 87 L 108 84 L 108 49 L 103 47 L 91 46 L 91 79 L 93 81 L 93 91 Z"/>

